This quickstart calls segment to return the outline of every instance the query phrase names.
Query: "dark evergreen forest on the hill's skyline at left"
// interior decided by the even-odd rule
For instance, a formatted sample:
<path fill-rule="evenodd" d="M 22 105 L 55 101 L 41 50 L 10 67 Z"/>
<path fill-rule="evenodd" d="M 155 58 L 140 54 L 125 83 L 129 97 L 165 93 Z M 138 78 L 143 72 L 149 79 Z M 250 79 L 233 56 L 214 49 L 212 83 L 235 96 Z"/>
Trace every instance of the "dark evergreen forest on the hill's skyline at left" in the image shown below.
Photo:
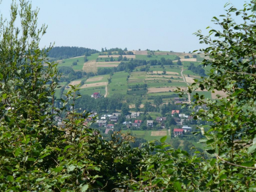
<path fill-rule="evenodd" d="M 78 57 L 78 56 L 90 56 L 91 54 L 97 53 L 99 51 L 95 49 L 89 49 L 85 47 L 53 47 L 48 52 L 48 57 L 54 57 L 56 59 L 67 59 L 70 57 Z"/>

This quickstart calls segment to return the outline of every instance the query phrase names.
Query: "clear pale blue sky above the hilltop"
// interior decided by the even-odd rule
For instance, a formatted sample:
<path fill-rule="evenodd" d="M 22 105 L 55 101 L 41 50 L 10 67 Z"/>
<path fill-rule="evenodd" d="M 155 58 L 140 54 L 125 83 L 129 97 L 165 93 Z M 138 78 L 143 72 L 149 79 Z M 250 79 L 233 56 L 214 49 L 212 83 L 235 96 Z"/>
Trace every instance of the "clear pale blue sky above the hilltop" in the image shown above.
<path fill-rule="evenodd" d="M 0 13 L 9 17 L 11 0 L 2 0 Z M 18 1 L 17 1 L 18 2 Z M 40 47 L 77 46 L 101 50 L 189 52 L 207 47 L 193 35 L 225 14 L 230 2 L 242 9 L 244 0 L 31 0 L 38 7 L 38 26 L 47 24 Z"/>

